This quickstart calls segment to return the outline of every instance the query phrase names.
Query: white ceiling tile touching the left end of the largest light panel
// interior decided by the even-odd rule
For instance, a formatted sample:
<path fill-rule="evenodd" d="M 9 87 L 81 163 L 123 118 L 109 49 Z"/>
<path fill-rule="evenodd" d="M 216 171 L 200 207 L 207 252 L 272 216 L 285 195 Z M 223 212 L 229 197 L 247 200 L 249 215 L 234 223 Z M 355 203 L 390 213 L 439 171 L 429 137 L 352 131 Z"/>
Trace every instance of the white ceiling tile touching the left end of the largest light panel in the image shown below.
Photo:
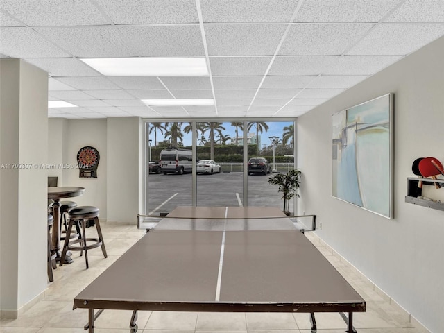
<path fill-rule="evenodd" d="M 29 58 L 26 62 L 47 71 L 50 76 L 97 76 L 84 62 L 75 58 Z"/>

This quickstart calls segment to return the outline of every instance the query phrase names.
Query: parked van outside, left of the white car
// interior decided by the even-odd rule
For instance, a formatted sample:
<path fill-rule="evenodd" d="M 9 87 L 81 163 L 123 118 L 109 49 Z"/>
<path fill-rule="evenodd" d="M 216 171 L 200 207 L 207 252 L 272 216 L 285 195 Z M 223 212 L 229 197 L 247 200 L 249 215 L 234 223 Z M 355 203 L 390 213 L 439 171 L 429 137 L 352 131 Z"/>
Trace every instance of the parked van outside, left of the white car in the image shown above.
<path fill-rule="evenodd" d="M 182 175 L 193 170 L 193 154 L 187 149 L 168 148 L 160 152 L 160 171 L 165 175 L 176 172 Z"/>

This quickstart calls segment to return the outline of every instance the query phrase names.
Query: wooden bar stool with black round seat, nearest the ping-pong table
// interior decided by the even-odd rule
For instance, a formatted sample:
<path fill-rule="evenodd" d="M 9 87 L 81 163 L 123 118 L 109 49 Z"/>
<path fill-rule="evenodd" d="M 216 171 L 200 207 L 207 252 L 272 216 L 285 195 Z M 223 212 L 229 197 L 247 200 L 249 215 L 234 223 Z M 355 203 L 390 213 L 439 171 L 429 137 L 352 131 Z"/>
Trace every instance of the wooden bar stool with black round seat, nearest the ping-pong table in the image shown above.
<path fill-rule="evenodd" d="M 65 245 L 63 246 L 62 257 L 60 258 L 60 266 L 62 266 L 65 260 L 65 255 L 67 253 L 67 250 L 85 251 L 86 269 L 89 268 L 87 250 L 91 250 L 92 248 L 98 248 L 99 246 L 101 246 L 103 256 L 105 258 L 108 257 L 108 255 L 106 254 L 105 243 L 103 242 L 102 230 L 100 228 L 99 217 L 98 217 L 99 212 L 100 212 L 99 208 L 93 206 L 79 206 L 68 210 L 67 219 L 69 220 L 69 223 L 68 223 L 67 234 L 65 237 Z M 96 225 L 97 234 L 99 238 L 86 237 L 85 228 L 87 222 L 90 219 L 94 219 L 94 223 Z M 80 225 L 82 225 L 82 233 L 80 239 L 75 239 L 74 241 L 70 241 L 69 237 L 71 235 L 72 225 L 74 224 L 74 221 L 78 221 Z M 90 243 L 90 245 L 87 244 L 88 242 Z M 77 243 L 79 243 L 80 245 L 76 246 L 75 244 Z"/>

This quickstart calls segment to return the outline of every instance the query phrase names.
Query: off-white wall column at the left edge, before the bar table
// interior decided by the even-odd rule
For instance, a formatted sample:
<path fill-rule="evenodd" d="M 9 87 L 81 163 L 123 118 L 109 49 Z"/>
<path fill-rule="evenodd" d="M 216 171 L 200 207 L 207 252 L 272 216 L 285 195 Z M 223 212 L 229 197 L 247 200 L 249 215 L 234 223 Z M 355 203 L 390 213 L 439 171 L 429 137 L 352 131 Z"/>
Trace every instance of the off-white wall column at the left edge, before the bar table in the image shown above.
<path fill-rule="evenodd" d="M 1 315 L 17 315 L 46 289 L 48 74 L 1 62 Z M 25 167 L 26 166 L 26 167 Z"/>

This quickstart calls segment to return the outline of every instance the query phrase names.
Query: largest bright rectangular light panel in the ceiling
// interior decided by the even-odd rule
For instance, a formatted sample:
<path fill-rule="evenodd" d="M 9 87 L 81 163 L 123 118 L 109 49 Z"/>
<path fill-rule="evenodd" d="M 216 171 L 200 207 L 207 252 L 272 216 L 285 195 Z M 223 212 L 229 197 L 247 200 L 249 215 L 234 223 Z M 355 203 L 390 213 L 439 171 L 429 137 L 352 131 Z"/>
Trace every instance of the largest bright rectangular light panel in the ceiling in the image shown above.
<path fill-rule="evenodd" d="M 92 58 L 80 59 L 110 76 L 207 76 L 205 58 Z"/>

